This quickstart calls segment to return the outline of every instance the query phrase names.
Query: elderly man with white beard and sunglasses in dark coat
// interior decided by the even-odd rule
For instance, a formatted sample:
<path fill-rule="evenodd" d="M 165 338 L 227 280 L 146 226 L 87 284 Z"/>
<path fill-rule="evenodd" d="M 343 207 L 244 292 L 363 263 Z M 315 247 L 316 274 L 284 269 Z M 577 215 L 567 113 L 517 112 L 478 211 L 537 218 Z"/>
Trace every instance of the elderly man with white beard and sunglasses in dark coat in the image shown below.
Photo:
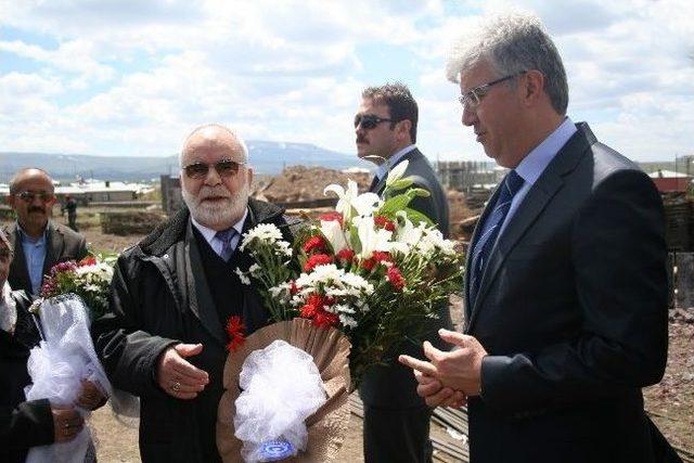
<path fill-rule="evenodd" d="M 282 209 L 248 197 L 248 150 L 234 131 L 195 129 L 180 164 L 187 207 L 118 258 L 93 338 L 113 385 L 140 397 L 143 462 L 218 462 L 224 327 L 240 317 L 248 335 L 269 321 L 234 273 L 250 263 L 237 245 L 258 223 L 292 232 Z"/>

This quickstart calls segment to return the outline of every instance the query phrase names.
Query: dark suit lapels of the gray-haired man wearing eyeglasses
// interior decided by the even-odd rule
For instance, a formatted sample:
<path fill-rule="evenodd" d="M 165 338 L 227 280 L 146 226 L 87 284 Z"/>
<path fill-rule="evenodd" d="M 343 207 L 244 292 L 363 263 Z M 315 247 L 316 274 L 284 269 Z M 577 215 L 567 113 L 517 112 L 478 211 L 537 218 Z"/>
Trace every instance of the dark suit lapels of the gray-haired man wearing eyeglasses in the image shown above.
<path fill-rule="evenodd" d="M 470 297 L 467 291 L 465 292 L 465 311 L 466 316 L 468 316 L 466 318 L 468 321 L 466 321 L 466 327 L 464 330 L 466 333 L 472 331 L 485 296 L 491 287 L 491 284 L 499 273 L 499 269 L 503 265 L 507 255 L 515 247 L 520 237 L 523 237 L 528 228 L 537 220 L 542 210 L 545 209 L 554 195 L 562 189 L 564 185 L 563 177 L 576 168 L 586 151 L 596 141 L 588 125 L 578 124 L 577 127 L 579 130 L 560 150 L 556 156 L 554 156 L 554 159 L 552 159 L 552 162 L 547 166 L 540 178 L 538 178 L 532 188 L 530 188 L 527 195 L 523 198 L 523 202 L 511 218 L 505 230 L 499 237 L 497 245 L 489 255 L 485 273 L 481 275 L 479 293 L 477 294 L 475 306 L 470 310 L 467 309 Z M 494 192 L 494 195 L 492 196 L 493 201 L 496 201 L 497 194 L 498 193 Z M 489 204 L 494 203 L 490 200 Z M 489 207 L 485 208 L 485 214 L 475 228 L 473 243 L 475 243 L 477 233 L 479 232 L 480 223 L 484 223 L 484 219 L 487 217 L 487 214 L 489 214 L 488 209 Z M 468 253 L 468 260 L 470 254 L 472 253 Z M 470 261 L 467 263 L 470 263 Z"/>

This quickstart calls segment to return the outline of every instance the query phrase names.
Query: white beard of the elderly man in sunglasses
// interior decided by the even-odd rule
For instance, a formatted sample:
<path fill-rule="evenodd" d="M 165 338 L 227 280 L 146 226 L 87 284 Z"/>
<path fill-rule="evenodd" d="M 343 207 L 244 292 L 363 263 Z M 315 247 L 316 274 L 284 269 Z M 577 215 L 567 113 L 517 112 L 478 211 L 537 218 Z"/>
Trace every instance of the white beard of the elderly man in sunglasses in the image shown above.
<path fill-rule="evenodd" d="M 223 230 L 233 227 L 248 207 L 248 195 L 250 189 L 248 182 L 235 193 L 230 193 L 223 187 L 209 188 L 202 187 L 197 195 L 193 195 L 181 189 L 183 202 L 191 211 L 191 216 L 201 224 L 215 229 Z M 224 201 L 209 203 L 202 201 L 209 196 L 224 196 Z"/>

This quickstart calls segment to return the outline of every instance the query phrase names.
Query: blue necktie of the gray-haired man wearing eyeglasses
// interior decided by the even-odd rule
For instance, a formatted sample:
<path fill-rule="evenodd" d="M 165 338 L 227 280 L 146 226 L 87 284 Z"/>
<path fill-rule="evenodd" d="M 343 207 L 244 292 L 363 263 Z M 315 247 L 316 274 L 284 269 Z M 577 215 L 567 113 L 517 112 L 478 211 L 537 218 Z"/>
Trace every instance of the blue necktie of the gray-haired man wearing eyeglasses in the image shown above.
<path fill-rule="evenodd" d="M 481 230 L 477 243 L 473 248 L 473 256 L 471 259 L 471 275 L 470 275 L 470 303 L 471 306 L 475 306 L 475 299 L 477 299 L 477 293 L 479 292 L 479 283 L 487 266 L 487 259 L 491 249 L 494 247 L 497 237 L 499 236 L 499 230 L 503 226 L 503 221 L 511 209 L 511 202 L 513 196 L 523 187 L 523 178 L 516 173 L 515 170 L 509 172 L 504 178 L 501 191 L 497 197 L 497 204 L 493 210 L 487 217 L 485 228 Z"/>

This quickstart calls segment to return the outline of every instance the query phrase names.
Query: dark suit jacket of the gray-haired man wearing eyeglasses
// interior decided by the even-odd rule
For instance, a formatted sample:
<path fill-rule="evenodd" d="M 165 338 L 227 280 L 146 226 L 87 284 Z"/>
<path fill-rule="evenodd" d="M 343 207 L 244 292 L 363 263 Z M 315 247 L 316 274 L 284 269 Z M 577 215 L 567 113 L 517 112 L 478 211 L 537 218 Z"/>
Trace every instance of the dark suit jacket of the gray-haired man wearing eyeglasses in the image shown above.
<path fill-rule="evenodd" d="M 667 359 L 663 205 L 645 173 L 577 127 L 466 305 L 465 333 L 489 352 L 468 404 L 473 462 L 653 459 L 641 387 Z"/>

